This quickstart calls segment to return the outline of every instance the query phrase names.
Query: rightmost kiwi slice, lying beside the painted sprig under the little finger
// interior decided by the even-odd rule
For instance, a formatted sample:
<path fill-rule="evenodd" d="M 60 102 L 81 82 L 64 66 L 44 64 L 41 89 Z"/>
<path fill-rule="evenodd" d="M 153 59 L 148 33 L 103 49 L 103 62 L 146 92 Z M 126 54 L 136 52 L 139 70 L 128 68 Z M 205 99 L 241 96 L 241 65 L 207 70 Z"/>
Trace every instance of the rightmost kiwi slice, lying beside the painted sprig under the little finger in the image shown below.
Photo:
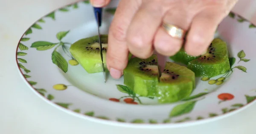
<path fill-rule="evenodd" d="M 188 68 L 195 72 L 195 76 L 214 77 L 230 70 L 226 42 L 213 39 L 207 53 L 188 63 Z"/>

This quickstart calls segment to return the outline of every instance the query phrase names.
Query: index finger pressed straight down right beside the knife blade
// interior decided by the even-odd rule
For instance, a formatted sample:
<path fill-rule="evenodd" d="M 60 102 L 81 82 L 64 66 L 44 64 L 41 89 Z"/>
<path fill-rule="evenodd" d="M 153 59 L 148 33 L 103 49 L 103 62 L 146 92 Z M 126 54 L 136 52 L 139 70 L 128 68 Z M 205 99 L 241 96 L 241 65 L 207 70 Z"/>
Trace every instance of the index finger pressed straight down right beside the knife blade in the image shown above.
<path fill-rule="evenodd" d="M 137 1 L 121 0 L 109 29 L 106 61 L 108 70 L 115 79 L 122 76 L 122 71 L 128 63 L 129 50 L 126 45 L 126 31 L 139 7 Z"/>

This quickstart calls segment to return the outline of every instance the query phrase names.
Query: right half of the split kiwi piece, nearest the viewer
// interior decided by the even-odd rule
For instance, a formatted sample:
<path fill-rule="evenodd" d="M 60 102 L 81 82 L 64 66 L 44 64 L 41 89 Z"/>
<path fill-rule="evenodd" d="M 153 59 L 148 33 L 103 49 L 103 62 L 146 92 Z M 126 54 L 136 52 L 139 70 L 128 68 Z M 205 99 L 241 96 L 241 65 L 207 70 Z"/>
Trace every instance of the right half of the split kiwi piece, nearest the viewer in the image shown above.
<path fill-rule="evenodd" d="M 195 73 L 188 68 L 166 62 L 157 84 L 159 103 L 172 103 L 191 95 L 195 89 Z"/>

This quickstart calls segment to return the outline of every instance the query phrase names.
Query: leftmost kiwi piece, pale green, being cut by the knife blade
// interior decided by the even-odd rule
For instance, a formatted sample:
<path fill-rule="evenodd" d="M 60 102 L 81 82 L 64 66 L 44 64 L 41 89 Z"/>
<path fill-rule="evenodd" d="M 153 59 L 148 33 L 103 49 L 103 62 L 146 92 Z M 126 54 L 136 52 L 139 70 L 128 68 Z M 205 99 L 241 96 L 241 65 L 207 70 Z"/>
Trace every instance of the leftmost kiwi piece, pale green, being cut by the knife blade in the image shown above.
<path fill-rule="evenodd" d="M 102 43 L 102 58 L 105 72 L 109 72 L 106 65 L 106 53 L 108 50 L 108 35 L 100 36 Z M 80 39 L 70 47 L 70 53 L 81 64 L 87 73 L 103 72 L 102 60 L 100 56 L 99 36 L 91 36 Z M 129 59 L 131 53 L 129 53 Z"/>

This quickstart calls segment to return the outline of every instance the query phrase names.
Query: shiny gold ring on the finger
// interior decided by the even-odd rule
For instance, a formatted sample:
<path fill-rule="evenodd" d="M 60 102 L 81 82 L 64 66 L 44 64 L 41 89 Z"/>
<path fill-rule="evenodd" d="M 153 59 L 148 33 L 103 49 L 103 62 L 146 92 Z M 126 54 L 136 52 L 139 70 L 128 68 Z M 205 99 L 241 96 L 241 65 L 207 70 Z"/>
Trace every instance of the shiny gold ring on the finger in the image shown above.
<path fill-rule="evenodd" d="M 185 31 L 175 25 L 167 24 L 163 22 L 163 29 L 172 37 L 183 39 Z"/>

